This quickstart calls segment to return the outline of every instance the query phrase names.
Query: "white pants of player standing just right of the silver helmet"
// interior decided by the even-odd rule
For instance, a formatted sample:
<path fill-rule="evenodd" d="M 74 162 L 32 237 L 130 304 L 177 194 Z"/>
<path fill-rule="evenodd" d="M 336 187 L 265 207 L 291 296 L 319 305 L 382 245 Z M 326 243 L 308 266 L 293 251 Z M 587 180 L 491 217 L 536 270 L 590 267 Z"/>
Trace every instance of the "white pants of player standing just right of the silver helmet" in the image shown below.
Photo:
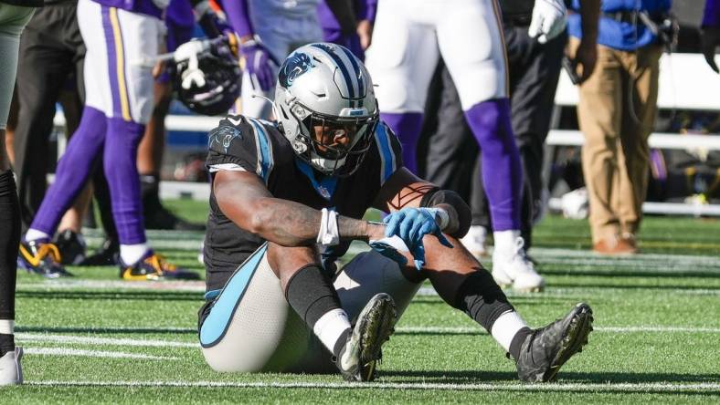
<path fill-rule="evenodd" d="M 508 96 L 496 0 L 383 0 L 366 55 L 382 112 L 422 112 L 439 56 L 463 110 Z"/>

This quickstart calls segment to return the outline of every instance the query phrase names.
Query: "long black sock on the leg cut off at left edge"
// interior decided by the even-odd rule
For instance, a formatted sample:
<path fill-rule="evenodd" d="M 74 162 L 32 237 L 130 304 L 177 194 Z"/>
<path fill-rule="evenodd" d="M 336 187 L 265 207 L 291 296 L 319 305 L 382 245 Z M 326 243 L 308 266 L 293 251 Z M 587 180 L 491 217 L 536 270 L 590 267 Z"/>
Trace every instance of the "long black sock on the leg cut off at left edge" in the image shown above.
<path fill-rule="evenodd" d="M 0 230 L 0 319 L 14 319 L 20 205 L 12 171 L 0 172 Z"/>

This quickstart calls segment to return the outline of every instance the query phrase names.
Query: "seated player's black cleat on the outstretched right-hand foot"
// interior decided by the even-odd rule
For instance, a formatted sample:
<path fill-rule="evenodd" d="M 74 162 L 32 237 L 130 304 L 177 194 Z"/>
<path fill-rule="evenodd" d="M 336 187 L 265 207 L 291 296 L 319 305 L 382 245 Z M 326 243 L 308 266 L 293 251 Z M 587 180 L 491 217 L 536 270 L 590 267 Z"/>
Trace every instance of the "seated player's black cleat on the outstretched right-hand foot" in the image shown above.
<path fill-rule="evenodd" d="M 535 329 L 520 350 L 518 377 L 526 382 L 555 380 L 560 367 L 588 344 L 592 321 L 592 309 L 580 303 L 563 319 Z"/>

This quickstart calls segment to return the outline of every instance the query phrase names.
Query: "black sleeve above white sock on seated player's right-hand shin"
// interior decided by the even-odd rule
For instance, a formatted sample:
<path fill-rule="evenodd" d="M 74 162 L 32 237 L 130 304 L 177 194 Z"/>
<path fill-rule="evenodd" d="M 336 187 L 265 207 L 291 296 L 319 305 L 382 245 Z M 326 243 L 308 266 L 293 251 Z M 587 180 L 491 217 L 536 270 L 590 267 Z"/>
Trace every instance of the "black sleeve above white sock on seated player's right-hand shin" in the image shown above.
<path fill-rule="evenodd" d="M 514 311 L 507 296 L 487 270 L 471 273 L 455 294 L 455 306 L 490 333 L 492 324 L 505 312 Z"/>

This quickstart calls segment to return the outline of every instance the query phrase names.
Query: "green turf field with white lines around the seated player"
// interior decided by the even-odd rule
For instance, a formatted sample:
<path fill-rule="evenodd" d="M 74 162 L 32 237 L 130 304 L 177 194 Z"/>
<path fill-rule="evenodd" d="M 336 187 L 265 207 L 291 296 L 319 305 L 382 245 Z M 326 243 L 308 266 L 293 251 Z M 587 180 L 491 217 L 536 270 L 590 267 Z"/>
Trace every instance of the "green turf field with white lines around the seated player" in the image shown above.
<path fill-rule="evenodd" d="M 203 203 L 168 203 L 196 221 L 206 215 Z M 649 217 L 643 254 L 623 259 L 588 253 L 586 221 L 547 217 L 535 235 L 531 254 L 548 287 L 508 292 L 514 306 L 532 326 L 579 301 L 595 312 L 588 347 L 556 383 L 518 382 L 492 338 L 429 286 L 397 324 L 374 383 L 217 374 L 196 343 L 201 284 L 126 283 L 114 267 L 70 267 L 73 279 L 18 276 L 26 385 L 0 389 L 0 403 L 720 402 L 720 221 Z M 176 264 L 201 270 L 202 234 L 149 238 Z"/>

